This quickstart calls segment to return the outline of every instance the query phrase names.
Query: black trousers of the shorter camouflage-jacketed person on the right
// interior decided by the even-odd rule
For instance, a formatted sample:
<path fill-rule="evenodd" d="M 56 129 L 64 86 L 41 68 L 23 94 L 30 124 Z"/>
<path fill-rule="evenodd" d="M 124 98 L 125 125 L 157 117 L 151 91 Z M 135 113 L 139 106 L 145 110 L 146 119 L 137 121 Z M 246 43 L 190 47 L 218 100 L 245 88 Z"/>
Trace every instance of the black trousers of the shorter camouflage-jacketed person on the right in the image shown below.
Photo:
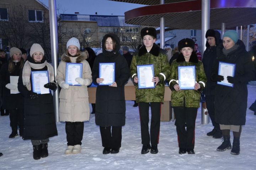
<path fill-rule="evenodd" d="M 173 108 L 176 118 L 175 125 L 178 135 L 178 146 L 180 148 L 194 149 L 197 108 L 185 106 Z"/>

